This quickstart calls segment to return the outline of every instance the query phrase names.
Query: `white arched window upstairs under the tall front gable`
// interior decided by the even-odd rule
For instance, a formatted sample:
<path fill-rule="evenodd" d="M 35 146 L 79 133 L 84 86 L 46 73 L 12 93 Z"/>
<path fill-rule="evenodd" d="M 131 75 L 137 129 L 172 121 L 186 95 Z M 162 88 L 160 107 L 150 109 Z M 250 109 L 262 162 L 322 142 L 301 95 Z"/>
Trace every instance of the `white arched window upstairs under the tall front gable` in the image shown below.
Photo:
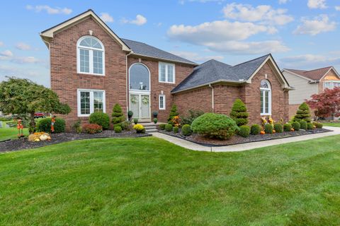
<path fill-rule="evenodd" d="M 77 71 L 102 76 L 105 74 L 104 46 L 96 37 L 84 36 L 78 40 Z"/>

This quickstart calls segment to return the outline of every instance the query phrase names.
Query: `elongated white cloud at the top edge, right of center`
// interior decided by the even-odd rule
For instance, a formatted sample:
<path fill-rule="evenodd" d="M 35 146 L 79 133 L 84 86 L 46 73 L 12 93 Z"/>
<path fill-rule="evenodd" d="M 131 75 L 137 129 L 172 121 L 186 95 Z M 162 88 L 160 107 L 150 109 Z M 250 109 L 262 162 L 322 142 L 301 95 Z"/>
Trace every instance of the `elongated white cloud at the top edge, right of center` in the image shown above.
<path fill-rule="evenodd" d="M 249 4 L 232 3 L 223 8 L 223 13 L 225 18 L 271 25 L 285 25 L 294 20 L 293 16 L 286 14 L 286 9 L 273 9 L 268 5 L 253 7 Z"/>

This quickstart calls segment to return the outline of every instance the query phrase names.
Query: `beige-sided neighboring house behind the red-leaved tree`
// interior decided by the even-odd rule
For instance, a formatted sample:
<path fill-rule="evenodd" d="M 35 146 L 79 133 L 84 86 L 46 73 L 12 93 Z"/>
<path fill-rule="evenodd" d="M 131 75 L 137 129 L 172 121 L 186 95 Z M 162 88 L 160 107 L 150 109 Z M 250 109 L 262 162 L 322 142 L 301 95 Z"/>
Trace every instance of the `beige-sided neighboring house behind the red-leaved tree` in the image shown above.
<path fill-rule="evenodd" d="M 311 95 L 322 93 L 325 88 L 340 86 L 339 73 L 332 66 L 310 71 L 283 69 L 283 75 L 295 88 L 289 93 L 290 117 L 295 115 L 299 105 L 310 99 Z"/>

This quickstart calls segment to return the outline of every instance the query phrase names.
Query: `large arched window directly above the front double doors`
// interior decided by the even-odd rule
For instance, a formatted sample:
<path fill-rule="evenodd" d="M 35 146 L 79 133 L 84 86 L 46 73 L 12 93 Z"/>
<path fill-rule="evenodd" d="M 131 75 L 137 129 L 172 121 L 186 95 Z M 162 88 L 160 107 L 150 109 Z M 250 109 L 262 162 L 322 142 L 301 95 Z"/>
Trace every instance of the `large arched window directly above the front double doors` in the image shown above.
<path fill-rule="evenodd" d="M 129 71 L 130 90 L 150 90 L 150 73 L 144 64 L 132 64 Z"/>

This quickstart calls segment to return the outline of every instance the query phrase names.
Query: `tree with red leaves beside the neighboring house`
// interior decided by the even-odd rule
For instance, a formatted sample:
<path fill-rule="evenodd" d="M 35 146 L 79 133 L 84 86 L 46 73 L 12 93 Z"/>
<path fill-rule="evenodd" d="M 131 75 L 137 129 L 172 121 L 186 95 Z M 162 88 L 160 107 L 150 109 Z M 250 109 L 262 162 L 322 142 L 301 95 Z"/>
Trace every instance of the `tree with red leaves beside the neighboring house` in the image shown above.
<path fill-rule="evenodd" d="M 340 116 L 340 87 L 325 89 L 322 93 L 313 94 L 307 104 L 316 109 L 317 117 L 334 117 Z"/>

